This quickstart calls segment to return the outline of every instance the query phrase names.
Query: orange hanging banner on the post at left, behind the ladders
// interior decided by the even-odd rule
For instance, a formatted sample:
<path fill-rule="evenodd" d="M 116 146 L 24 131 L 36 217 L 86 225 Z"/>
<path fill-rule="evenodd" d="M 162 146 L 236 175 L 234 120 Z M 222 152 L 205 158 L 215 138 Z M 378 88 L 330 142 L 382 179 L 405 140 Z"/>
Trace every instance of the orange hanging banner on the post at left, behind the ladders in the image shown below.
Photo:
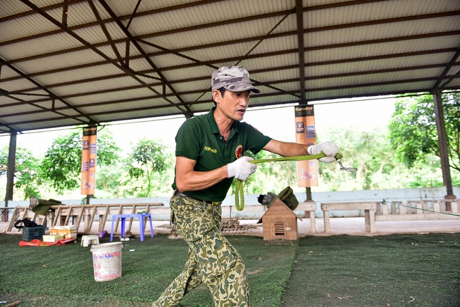
<path fill-rule="evenodd" d="M 82 194 L 85 195 L 94 195 L 95 192 L 97 132 L 97 127 L 83 128 Z"/>

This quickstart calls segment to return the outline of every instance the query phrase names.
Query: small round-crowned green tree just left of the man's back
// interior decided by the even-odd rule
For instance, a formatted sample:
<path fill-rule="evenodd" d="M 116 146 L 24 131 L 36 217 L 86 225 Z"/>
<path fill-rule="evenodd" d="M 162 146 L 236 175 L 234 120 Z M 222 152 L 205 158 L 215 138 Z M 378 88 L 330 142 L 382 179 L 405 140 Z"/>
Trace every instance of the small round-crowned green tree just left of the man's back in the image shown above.
<path fill-rule="evenodd" d="M 132 194 L 148 197 L 153 187 L 165 186 L 167 179 L 162 174 L 172 166 L 171 154 L 166 149 L 161 141 L 152 139 L 140 139 L 133 146 L 127 160 L 128 174 L 138 182 L 132 186 Z M 169 187 L 170 184 L 166 185 Z"/>

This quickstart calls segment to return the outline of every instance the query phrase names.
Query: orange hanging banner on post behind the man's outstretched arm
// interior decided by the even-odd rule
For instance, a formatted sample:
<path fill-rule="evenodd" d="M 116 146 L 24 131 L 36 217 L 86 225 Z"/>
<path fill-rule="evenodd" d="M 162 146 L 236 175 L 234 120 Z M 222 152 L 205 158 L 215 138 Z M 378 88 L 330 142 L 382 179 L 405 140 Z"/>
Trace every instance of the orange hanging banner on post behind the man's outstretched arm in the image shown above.
<path fill-rule="evenodd" d="M 296 142 L 316 145 L 313 106 L 299 105 L 296 107 Z M 297 162 L 297 183 L 299 187 L 318 185 L 318 160 Z"/>

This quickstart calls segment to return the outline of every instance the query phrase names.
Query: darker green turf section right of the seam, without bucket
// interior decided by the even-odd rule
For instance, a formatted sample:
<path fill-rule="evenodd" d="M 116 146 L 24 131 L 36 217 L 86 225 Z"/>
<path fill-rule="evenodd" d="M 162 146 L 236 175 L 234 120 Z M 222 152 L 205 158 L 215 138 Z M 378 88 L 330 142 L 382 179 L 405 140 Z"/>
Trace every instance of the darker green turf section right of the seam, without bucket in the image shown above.
<path fill-rule="evenodd" d="M 284 307 L 460 306 L 460 235 L 305 237 Z"/>

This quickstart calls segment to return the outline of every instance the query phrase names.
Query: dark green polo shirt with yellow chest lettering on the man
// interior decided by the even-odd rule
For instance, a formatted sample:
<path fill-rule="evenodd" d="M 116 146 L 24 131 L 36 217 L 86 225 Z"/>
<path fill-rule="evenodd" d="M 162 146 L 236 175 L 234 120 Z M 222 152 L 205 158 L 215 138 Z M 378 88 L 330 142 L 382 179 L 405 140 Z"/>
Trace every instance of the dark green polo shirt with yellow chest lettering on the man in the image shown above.
<path fill-rule="evenodd" d="M 247 123 L 235 121 L 228 141 L 221 138 L 213 116 L 209 113 L 185 120 L 176 135 L 176 156 L 195 160 L 195 171 L 212 171 L 243 157 L 246 150 L 256 154 L 271 140 Z M 227 196 L 233 178 L 227 178 L 201 191 L 181 191 L 206 201 L 222 201 Z M 176 187 L 176 178 L 172 184 Z"/>

